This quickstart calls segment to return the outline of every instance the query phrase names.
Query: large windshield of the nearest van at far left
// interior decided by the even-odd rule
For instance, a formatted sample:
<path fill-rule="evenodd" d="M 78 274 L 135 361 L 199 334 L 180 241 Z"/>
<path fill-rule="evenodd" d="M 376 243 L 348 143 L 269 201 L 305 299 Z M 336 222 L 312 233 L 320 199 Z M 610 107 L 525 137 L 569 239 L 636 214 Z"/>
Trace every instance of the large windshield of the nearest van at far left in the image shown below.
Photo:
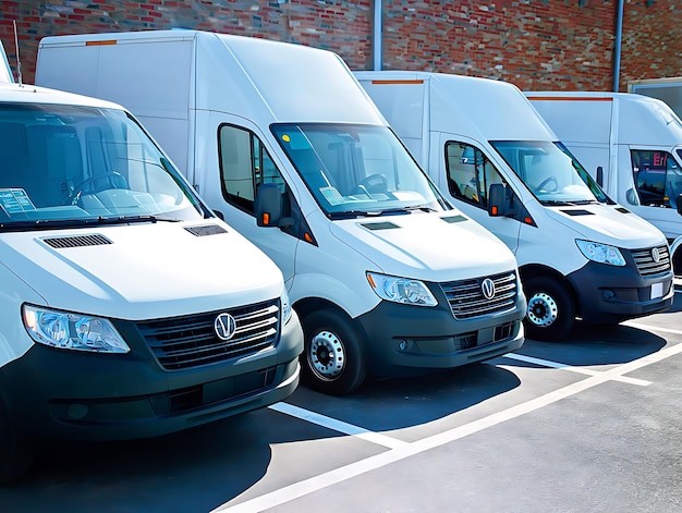
<path fill-rule="evenodd" d="M 199 199 L 124 111 L 0 105 L 0 228 L 205 217 Z"/>

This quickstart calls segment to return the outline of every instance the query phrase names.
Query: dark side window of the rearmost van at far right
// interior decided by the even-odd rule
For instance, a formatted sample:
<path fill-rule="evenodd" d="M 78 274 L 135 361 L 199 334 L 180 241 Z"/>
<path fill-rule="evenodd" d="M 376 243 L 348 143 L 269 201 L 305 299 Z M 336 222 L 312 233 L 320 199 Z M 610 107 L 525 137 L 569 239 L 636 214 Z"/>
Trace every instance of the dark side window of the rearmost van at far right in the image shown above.
<path fill-rule="evenodd" d="M 668 151 L 632 149 L 632 172 L 642 205 L 677 208 L 682 170 Z"/>

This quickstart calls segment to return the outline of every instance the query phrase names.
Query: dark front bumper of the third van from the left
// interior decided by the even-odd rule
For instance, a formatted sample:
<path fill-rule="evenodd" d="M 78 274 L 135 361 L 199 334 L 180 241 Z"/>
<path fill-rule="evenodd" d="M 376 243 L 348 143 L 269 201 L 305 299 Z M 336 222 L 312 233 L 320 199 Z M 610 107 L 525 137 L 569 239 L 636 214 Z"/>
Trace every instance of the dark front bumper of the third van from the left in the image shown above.
<path fill-rule="evenodd" d="M 568 277 L 577 293 L 579 316 L 610 323 L 668 309 L 674 298 L 672 272 L 642 277 L 634 265 L 588 262 Z"/>

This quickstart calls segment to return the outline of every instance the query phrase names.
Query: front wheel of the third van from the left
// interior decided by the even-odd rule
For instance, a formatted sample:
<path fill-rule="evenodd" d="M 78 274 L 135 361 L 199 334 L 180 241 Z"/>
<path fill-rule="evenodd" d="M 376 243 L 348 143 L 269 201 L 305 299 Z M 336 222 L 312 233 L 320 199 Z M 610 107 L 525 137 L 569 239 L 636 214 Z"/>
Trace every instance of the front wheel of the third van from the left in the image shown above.
<path fill-rule="evenodd" d="M 557 341 L 563 339 L 575 321 L 573 300 L 557 280 L 531 278 L 523 284 L 528 307 L 524 322 L 529 339 Z"/>

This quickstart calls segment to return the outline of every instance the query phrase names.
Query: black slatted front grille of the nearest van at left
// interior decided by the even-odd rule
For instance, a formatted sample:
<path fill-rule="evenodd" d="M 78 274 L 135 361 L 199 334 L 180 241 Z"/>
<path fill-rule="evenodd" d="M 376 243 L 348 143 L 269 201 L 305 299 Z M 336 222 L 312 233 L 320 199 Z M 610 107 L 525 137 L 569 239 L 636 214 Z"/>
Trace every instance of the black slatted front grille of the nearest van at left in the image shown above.
<path fill-rule="evenodd" d="M 214 331 L 218 315 L 228 313 L 236 329 L 230 340 Z M 137 322 L 147 346 L 166 370 L 181 370 L 257 353 L 276 344 L 279 300 L 228 310 Z"/>

